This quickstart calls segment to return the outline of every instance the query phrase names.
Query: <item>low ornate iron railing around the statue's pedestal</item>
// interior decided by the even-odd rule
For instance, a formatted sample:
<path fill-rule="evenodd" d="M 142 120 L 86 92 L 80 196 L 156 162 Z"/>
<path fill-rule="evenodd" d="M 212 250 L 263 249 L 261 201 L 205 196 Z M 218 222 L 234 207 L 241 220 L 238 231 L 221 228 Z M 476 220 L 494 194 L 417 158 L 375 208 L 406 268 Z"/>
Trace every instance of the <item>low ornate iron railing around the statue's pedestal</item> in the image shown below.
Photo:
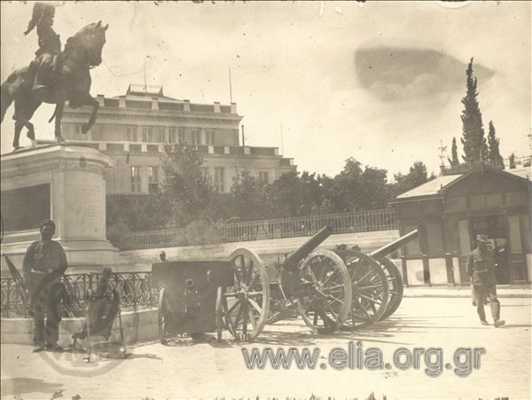
<path fill-rule="evenodd" d="M 90 290 L 96 290 L 100 274 L 82 273 L 65 275 L 62 280 L 71 302 L 67 307 L 74 317 L 84 316 L 84 302 Z M 157 307 L 159 292 L 152 287 L 152 272 L 116 272 L 110 280 L 120 295 L 121 310 L 142 310 Z M 3 318 L 29 317 L 29 301 L 27 294 L 11 277 L 0 278 L 0 293 L 2 297 L 1 314 Z"/>

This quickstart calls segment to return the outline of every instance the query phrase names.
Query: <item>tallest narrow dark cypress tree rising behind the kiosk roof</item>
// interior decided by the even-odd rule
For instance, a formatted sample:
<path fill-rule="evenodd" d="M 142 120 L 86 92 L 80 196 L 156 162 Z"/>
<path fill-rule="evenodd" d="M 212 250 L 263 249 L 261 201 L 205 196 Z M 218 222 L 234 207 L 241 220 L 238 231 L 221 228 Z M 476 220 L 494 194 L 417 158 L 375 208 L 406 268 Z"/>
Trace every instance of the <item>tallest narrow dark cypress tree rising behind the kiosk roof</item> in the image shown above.
<path fill-rule="evenodd" d="M 488 145 L 484 137 L 482 127 L 482 114 L 477 99 L 477 78 L 473 75 L 473 58 L 467 65 L 465 71 L 466 90 L 465 97 L 462 98 L 464 110 L 460 116 L 462 120 L 462 145 L 464 146 L 464 161 L 467 164 L 474 164 L 488 158 Z"/>

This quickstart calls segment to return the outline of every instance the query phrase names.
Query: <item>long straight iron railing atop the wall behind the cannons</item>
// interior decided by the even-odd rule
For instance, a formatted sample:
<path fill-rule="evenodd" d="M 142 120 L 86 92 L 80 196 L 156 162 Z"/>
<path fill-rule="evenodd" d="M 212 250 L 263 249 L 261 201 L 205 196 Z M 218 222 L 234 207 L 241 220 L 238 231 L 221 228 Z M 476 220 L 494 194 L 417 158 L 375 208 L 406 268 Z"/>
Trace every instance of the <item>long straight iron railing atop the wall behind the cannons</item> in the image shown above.
<path fill-rule="evenodd" d="M 189 234 L 187 229 L 182 228 L 129 233 L 123 238 L 121 249 L 136 250 L 312 236 L 325 225 L 331 226 L 334 233 L 388 231 L 397 229 L 397 218 L 393 208 L 382 208 L 230 224 L 198 224 L 194 234 Z M 202 227 L 203 231 L 198 231 L 199 227 Z"/>

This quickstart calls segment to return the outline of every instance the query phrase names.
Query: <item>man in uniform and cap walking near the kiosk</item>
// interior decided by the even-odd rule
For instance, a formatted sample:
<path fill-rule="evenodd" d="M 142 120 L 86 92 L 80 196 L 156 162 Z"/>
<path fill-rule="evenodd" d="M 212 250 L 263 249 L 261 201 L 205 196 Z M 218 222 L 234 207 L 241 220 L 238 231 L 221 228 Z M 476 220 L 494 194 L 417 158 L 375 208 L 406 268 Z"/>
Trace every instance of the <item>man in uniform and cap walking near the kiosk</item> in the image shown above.
<path fill-rule="evenodd" d="M 477 313 L 482 325 L 489 325 L 484 312 L 484 302 L 489 299 L 489 308 L 495 327 L 505 325 L 500 319 L 501 305 L 497 300 L 495 260 L 489 251 L 489 239 L 486 235 L 477 236 L 477 247 L 467 258 L 467 274 L 471 278 Z"/>

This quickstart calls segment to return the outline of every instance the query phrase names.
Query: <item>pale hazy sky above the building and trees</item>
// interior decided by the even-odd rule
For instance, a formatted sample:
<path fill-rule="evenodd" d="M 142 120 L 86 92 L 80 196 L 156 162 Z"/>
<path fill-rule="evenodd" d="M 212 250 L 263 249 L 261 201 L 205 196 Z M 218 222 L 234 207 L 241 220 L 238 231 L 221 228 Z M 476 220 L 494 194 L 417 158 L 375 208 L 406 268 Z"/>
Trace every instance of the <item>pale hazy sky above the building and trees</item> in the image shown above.
<path fill-rule="evenodd" d="M 530 153 L 530 2 L 63 2 L 54 28 L 66 43 L 83 26 L 109 24 L 91 94 L 129 83 L 162 85 L 168 97 L 230 102 L 246 145 L 277 146 L 299 171 L 334 176 L 349 157 L 391 179 L 462 135 L 461 98 L 471 58 L 486 130 L 500 151 Z M 1 2 L 1 78 L 37 48 L 24 36 L 30 2 Z M 144 74 L 145 66 L 145 74 Z M 53 137 L 34 116 L 38 138 Z M 12 109 L 2 153 L 12 151 Z M 22 144 L 27 144 L 23 141 Z"/>

